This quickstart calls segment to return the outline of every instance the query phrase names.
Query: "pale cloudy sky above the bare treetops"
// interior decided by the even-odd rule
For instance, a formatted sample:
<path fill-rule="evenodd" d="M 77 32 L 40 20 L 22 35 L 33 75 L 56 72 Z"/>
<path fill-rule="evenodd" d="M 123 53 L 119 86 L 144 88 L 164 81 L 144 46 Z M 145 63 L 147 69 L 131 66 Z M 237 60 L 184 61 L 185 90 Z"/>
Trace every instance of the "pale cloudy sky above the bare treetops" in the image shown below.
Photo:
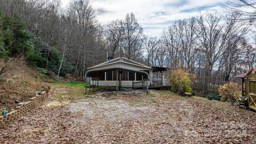
<path fill-rule="evenodd" d="M 70 0 L 61 0 L 66 6 Z M 190 18 L 199 13 L 220 11 L 223 0 L 91 0 L 98 21 L 105 24 L 124 19 L 133 12 L 144 34 L 159 36 L 175 20 Z"/>

